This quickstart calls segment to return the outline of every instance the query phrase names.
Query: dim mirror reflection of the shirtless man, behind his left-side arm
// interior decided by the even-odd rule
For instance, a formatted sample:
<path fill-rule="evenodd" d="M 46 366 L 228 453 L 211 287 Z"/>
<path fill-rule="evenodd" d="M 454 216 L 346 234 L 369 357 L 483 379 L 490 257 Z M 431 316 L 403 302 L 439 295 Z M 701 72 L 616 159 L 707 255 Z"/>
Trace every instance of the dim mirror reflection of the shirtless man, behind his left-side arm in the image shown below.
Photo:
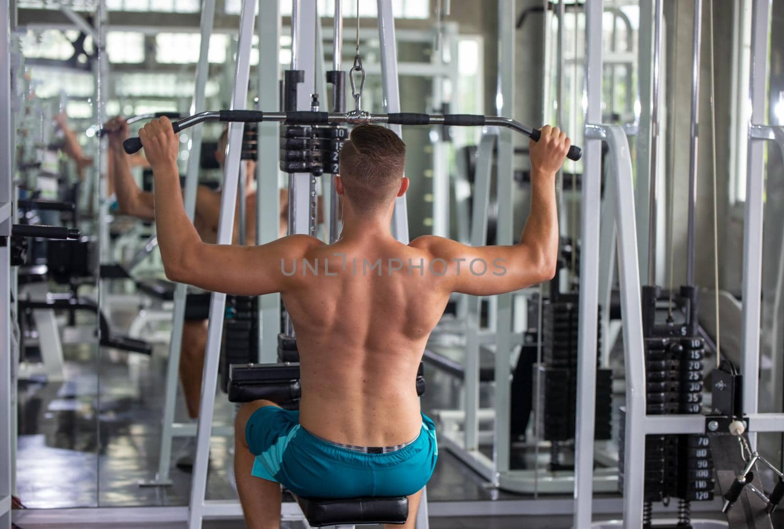
<path fill-rule="evenodd" d="M 104 125 L 109 137 L 109 181 L 114 184 L 117 195 L 119 212 L 135 216 L 139 219 L 152 221 L 155 218 L 153 194 L 143 191 L 136 184 L 131 175 L 130 167 L 132 157 L 125 154 L 122 142 L 129 136 L 128 124 L 123 118 L 114 118 Z M 224 130 L 218 140 L 215 158 L 223 167 L 226 156 L 228 131 Z M 140 155 L 136 155 L 140 156 Z M 246 161 L 245 193 L 245 244 L 256 244 L 256 162 Z M 277 175 L 274 178 L 277 179 Z M 221 190 L 212 190 L 207 186 L 199 185 L 196 192 L 196 208 L 194 211 L 194 227 L 202 241 L 214 244 L 218 233 L 218 220 L 220 217 Z M 239 200 L 239 198 L 238 198 Z M 281 190 L 281 219 L 279 235 L 285 236 L 287 228 L 288 192 Z M 238 244 L 239 212 L 234 217 L 234 244 Z M 207 343 L 207 317 L 209 305 L 195 303 L 195 296 L 188 296 L 185 309 L 185 322 L 183 325 L 183 344 L 180 356 L 180 382 L 183 385 L 185 403 L 188 416 L 195 421 L 198 418 L 199 397 L 201 394 L 201 369 L 204 364 L 204 352 Z M 189 470 L 193 467 L 196 454 L 195 437 L 189 437 L 183 454 L 177 459 L 180 469 Z"/>

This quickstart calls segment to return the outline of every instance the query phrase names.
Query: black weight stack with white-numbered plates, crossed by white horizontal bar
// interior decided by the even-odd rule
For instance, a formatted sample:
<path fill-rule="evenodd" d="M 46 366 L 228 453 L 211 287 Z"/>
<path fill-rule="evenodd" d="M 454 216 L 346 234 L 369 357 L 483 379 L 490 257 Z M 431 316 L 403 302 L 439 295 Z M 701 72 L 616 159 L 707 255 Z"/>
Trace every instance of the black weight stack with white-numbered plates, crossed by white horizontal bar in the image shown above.
<path fill-rule="evenodd" d="M 704 342 L 697 328 L 697 290 L 681 287 L 678 295 L 659 287 L 642 288 L 645 346 L 645 399 L 648 415 L 702 413 Z M 677 310 L 662 320 L 657 303 Z M 659 318 L 657 319 L 657 316 Z M 675 319 L 683 321 L 675 321 Z M 621 409 L 619 491 L 623 491 L 626 409 Z M 645 437 L 643 527 L 652 527 L 652 502 L 679 499 L 677 527 L 691 527 L 690 502 L 713 499 L 715 479 L 705 434 Z"/>

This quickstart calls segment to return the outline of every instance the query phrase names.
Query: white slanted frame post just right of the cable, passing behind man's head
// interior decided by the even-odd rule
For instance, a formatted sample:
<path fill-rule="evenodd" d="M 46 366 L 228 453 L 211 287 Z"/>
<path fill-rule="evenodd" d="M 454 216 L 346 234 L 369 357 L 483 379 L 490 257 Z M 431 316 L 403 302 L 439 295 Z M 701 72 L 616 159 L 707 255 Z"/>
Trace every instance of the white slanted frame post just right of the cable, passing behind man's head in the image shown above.
<path fill-rule="evenodd" d="M 400 90 L 397 84 L 397 42 L 394 31 L 394 14 L 391 0 L 377 0 L 379 13 L 379 49 L 381 53 L 381 79 L 384 111 L 400 112 Z M 397 136 L 403 136 L 400 125 L 390 125 Z M 408 212 L 405 194 L 397 197 L 392 214 L 392 235 L 408 245 Z"/>

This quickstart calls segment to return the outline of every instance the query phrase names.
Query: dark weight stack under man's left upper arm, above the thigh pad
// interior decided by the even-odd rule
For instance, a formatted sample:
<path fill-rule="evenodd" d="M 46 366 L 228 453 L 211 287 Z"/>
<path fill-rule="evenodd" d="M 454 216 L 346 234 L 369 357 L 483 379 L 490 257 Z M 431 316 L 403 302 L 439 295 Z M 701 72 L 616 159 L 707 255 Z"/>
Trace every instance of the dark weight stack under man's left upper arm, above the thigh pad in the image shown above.
<path fill-rule="evenodd" d="M 220 387 L 227 393 L 229 366 L 259 361 L 259 299 L 241 295 L 226 296 L 223 320 L 223 349 L 220 355 Z"/>

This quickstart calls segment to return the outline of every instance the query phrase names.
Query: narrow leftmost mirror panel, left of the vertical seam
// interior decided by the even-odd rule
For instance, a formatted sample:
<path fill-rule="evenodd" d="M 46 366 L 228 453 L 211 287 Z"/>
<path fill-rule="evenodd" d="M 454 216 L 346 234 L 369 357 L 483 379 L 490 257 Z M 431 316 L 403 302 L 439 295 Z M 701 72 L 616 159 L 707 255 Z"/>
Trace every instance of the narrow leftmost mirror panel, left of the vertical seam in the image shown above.
<path fill-rule="evenodd" d="M 15 493 L 32 509 L 94 507 L 100 157 L 85 130 L 98 121 L 96 49 L 93 36 L 73 25 L 17 27 L 10 45 L 18 58 L 11 102 L 18 266 L 12 327 L 20 346 Z"/>

